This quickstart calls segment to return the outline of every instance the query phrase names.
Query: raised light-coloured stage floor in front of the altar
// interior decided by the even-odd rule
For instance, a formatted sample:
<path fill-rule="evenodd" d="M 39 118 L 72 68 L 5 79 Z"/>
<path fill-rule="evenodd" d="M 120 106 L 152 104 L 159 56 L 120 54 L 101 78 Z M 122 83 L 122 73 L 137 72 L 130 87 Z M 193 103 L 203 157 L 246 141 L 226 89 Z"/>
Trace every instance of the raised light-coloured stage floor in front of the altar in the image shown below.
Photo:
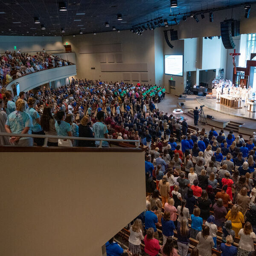
<path fill-rule="evenodd" d="M 196 100 L 200 105 L 205 105 L 206 108 L 209 108 L 213 111 L 219 113 L 224 113 L 229 116 L 236 116 L 249 120 L 256 120 L 256 112 L 247 111 L 247 107 L 244 107 L 244 102 L 241 103 L 241 108 L 229 108 L 220 103 L 216 103 L 216 99 L 206 99 L 205 96 L 196 97 Z"/>

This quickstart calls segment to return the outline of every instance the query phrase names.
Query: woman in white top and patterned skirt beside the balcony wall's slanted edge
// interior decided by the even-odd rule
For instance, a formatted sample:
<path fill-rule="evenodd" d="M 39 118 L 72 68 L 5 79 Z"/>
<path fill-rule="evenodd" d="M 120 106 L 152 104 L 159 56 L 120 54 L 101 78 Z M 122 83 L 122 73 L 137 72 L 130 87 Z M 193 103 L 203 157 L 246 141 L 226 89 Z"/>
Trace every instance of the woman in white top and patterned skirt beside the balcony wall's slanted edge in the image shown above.
<path fill-rule="evenodd" d="M 130 236 L 129 236 L 129 251 L 133 256 L 138 256 L 141 253 L 141 240 L 143 237 L 143 224 L 142 221 L 137 218 L 134 221 L 134 224 L 130 227 Z"/>

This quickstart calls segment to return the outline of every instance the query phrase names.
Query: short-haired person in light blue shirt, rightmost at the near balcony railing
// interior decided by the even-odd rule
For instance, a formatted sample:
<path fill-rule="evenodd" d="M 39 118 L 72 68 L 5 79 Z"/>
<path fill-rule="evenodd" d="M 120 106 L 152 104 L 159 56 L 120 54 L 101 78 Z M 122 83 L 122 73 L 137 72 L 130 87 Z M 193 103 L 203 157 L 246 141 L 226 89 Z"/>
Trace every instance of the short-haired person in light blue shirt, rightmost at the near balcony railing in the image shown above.
<path fill-rule="evenodd" d="M 102 138 L 108 139 L 108 128 L 103 123 L 105 120 L 105 113 L 103 111 L 99 111 L 96 116 L 97 116 L 98 122 L 96 122 L 93 125 L 94 137 L 99 139 L 102 139 Z M 99 140 L 96 140 L 95 145 L 99 146 Z M 108 147 L 108 142 L 102 141 L 102 147 Z"/>

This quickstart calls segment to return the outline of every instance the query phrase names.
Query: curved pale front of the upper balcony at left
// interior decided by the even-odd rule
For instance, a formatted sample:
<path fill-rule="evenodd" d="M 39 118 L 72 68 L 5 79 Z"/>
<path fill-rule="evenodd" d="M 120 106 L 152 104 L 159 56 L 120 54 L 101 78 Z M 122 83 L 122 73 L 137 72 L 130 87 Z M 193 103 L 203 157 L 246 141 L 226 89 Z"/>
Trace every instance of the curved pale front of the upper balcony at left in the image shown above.
<path fill-rule="evenodd" d="M 20 91 L 27 92 L 42 84 L 49 83 L 69 76 L 76 76 L 76 64 L 64 67 L 55 67 L 21 76 L 6 85 L 6 90 L 13 90 L 16 83 L 20 84 Z"/>

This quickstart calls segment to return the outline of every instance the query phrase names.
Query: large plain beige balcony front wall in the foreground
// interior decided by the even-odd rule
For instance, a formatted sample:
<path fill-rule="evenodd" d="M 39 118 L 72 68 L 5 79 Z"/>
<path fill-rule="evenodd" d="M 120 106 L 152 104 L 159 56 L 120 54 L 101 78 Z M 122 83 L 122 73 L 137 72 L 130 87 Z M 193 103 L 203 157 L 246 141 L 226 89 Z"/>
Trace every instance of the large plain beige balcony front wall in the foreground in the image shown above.
<path fill-rule="evenodd" d="M 145 209 L 144 152 L 1 152 L 0 255 L 99 256 Z"/>

